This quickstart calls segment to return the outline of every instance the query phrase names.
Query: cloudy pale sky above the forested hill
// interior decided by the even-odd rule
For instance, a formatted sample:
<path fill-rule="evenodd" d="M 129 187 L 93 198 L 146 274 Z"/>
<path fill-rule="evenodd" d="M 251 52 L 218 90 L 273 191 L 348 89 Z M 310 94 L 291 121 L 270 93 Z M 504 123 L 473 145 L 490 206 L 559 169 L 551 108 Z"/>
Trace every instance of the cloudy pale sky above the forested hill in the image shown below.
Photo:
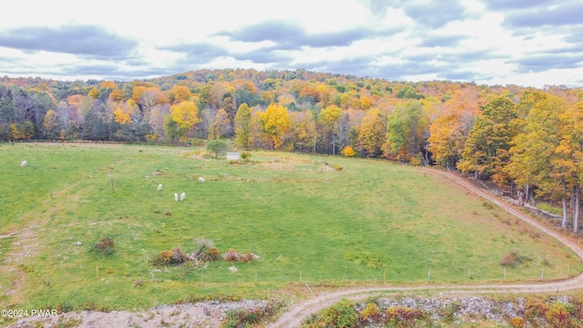
<path fill-rule="evenodd" d="M 0 77 L 201 68 L 583 87 L 583 1 L 22 0 L 0 11 Z"/>

